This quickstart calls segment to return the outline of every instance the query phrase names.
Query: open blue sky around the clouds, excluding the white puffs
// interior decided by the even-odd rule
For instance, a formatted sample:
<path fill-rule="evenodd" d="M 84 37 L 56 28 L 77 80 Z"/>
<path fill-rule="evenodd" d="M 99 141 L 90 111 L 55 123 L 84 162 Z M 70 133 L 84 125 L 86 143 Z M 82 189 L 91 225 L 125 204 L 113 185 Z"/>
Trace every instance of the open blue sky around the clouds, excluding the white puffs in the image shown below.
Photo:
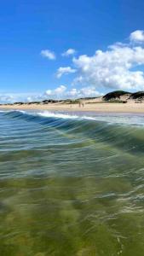
<path fill-rule="evenodd" d="M 55 90 L 61 85 L 65 87 L 63 91 L 66 96 L 68 96 L 66 91 L 74 89 L 80 94 L 81 89 L 89 87 L 97 93 L 121 88 L 117 83 L 116 88 L 114 83 L 112 86 L 110 82 L 105 84 L 105 80 L 112 81 L 109 73 L 101 83 L 97 78 L 86 79 L 97 72 L 97 66 L 94 73 L 84 73 L 85 66 L 83 63 L 82 67 L 79 58 L 82 55 L 90 58 L 98 49 L 106 53 L 107 47 L 117 42 L 127 44 L 125 47 L 133 51 L 136 47 L 134 44 L 139 44 L 137 47 L 143 49 L 144 40 L 134 38 L 130 41 L 130 33 L 135 31 L 141 31 L 141 35 L 143 33 L 143 13 L 144 2 L 141 0 L 6 0 L 3 3 L 1 1 L 1 95 L 42 95 L 50 90 L 47 96 L 49 94 L 54 96 Z M 62 56 L 61 54 L 67 49 L 75 49 L 76 53 Z M 55 60 L 44 57 L 41 54 L 42 50 L 54 52 Z M 134 72 L 140 71 L 142 78 L 143 62 L 141 61 L 140 65 L 140 61 L 137 61 L 138 65 L 129 67 Z M 71 67 L 73 73 L 64 73 L 57 78 L 60 67 Z M 103 65 L 102 68 L 107 69 Z M 80 83 L 78 77 L 82 78 Z M 130 81 L 129 77 L 129 83 Z M 127 84 L 127 80 L 124 83 Z M 142 89 L 144 88 L 142 83 L 141 81 L 140 86 L 137 87 L 125 85 L 125 89 Z"/>

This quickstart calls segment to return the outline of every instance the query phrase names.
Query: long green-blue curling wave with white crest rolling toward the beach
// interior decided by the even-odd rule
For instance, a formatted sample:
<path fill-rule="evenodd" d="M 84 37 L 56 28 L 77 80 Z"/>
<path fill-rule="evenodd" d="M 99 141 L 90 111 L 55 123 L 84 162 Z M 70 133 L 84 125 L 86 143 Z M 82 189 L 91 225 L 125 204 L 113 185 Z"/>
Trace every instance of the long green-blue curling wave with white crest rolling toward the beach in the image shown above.
<path fill-rule="evenodd" d="M 65 135 L 91 139 L 93 143 L 107 143 L 124 151 L 141 152 L 144 149 L 143 125 L 125 125 L 100 120 L 98 116 L 70 113 L 9 111 L 4 113 L 11 119 L 21 119 L 43 125 L 44 129 L 62 132 Z M 118 118 L 118 116 L 117 116 Z M 106 118 L 107 119 L 107 118 Z"/>

